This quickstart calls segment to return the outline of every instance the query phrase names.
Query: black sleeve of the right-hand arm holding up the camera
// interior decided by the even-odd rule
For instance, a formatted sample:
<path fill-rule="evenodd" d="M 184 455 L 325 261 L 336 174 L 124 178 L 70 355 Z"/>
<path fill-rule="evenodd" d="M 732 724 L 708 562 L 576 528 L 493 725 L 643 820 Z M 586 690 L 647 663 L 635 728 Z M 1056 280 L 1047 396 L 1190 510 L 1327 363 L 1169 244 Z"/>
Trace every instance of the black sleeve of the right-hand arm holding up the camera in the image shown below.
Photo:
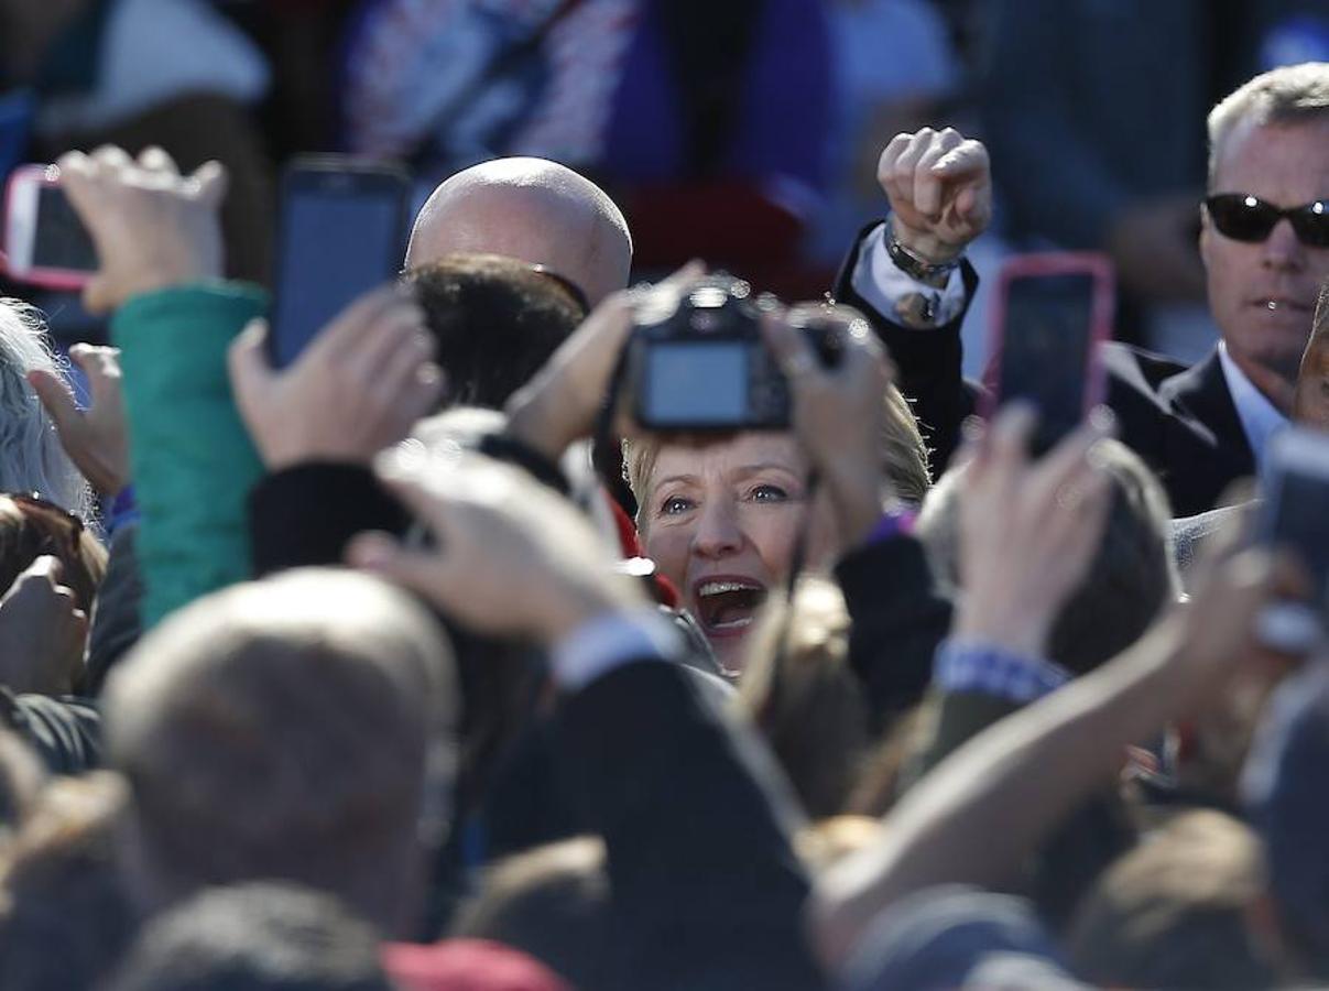
<path fill-rule="evenodd" d="M 906 534 L 845 555 L 836 579 L 852 620 L 849 664 L 880 733 L 922 699 L 933 652 L 950 628 L 950 599 L 937 587 L 922 543 Z"/>

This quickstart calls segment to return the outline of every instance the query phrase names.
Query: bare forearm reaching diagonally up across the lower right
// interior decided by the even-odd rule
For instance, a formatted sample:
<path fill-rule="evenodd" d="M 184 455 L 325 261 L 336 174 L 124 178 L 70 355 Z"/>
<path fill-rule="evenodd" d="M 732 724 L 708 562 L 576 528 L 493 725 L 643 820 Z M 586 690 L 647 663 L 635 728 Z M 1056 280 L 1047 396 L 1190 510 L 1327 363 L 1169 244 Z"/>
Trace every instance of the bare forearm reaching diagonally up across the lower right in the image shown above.
<path fill-rule="evenodd" d="M 1278 581 L 1286 581 L 1278 574 Z M 843 962 L 882 909 L 922 887 L 991 886 L 1094 789 L 1128 744 L 1192 712 L 1248 656 L 1275 585 L 1257 551 L 1224 559 L 1187 611 L 1175 611 L 1120 658 L 974 737 L 892 812 L 886 841 L 845 863 L 817 893 L 813 926 Z M 994 600 L 995 602 L 995 600 Z M 975 614 L 978 615 L 978 614 Z M 1031 643 L 1005 614 L 970 630 Z"/>

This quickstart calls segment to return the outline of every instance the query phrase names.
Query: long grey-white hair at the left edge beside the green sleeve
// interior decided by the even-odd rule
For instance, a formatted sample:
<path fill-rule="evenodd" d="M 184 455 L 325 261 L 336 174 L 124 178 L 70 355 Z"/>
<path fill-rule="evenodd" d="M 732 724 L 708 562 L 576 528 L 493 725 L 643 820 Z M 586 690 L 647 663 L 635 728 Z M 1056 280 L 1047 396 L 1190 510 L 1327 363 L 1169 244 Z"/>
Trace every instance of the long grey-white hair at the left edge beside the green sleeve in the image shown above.
<path fill-rule="evenodd" d="M 0 492 L 39 493 L 85 521 L 92 490 L 60 444 L 28 372 L 62 375 L 36 310 L 0 299 Z"/>

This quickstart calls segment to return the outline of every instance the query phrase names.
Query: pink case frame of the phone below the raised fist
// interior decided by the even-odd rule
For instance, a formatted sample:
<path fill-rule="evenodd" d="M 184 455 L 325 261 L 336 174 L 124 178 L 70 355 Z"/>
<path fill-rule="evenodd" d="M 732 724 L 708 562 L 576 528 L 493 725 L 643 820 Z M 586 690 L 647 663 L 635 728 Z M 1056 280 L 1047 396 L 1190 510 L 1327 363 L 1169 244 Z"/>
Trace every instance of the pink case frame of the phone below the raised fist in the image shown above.
<path fill-rule="evenodd" d="M 1112 314 L 1116 307 L 1116 274 L 1107 255 L 1092 251 L 1047 251 L 1015 255 L 1002 266 L 997 276 L 997 299 L 987 325 L 987 368 L 983 372 L 983 395 L 978 413 L 991 420 L 1001 405 L 1001 356 L 1006 332 L 1006 307 L 1010 284 L 1017 279 L 1049 275 L 1088 275 L 1094 282 L 1094 300 L 1090 311 L 1090 340 L 1084 363 L 1084 414 L 1104 397 L 1102 344 L 1112 336 Z"/>

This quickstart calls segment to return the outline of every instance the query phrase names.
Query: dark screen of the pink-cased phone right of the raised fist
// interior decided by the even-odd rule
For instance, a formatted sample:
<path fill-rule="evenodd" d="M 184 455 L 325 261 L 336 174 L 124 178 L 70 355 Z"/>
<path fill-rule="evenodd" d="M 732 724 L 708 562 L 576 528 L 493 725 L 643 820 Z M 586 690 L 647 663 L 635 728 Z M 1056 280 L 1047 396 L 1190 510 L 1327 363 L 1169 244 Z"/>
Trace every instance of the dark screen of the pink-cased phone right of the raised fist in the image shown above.
<path fill-rule="evenodd" d="M 1001 343 L 1001 401 L 1038 408 L 1037 446 L 1055 444 L 1084 418 L 1094 316 L 1088 274 L 1011 279 Z"/>

